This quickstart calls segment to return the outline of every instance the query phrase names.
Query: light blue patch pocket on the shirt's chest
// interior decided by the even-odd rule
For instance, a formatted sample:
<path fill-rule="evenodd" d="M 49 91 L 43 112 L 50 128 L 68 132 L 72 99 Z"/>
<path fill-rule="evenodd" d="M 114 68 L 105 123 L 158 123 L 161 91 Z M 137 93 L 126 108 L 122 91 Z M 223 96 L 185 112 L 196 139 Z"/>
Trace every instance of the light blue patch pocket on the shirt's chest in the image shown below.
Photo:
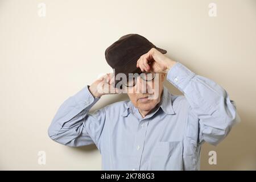
<path fill-rule="evenodd" d="M 151 156 L 151 170 L 182 170 L 182 143 L 158 142 Z"/>

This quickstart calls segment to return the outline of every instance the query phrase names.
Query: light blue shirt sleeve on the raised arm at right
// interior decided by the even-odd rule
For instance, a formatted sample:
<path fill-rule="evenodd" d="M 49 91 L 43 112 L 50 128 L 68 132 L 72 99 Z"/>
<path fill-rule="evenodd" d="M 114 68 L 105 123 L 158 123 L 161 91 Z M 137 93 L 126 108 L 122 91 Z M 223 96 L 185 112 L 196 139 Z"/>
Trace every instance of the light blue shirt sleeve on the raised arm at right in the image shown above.
<path fill-rule="evenodd" d="M 180 63 L 170 69 L 167 80 L 184 94 L 191 112 L 199 119 L 196 142 L 205 141 L 216 146 L 240 121 L 235 102 L 216 82 L 196 75 Z"/>

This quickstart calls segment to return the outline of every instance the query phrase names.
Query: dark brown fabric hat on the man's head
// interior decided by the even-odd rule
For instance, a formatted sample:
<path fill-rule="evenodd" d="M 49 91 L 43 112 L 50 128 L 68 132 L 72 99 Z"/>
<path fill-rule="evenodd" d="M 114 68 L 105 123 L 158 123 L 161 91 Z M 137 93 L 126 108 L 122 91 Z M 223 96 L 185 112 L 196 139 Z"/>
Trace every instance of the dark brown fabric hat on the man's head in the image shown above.
<path fill-rule="evenodd" d="M 137 68 L 137 60 L 141 55 L 147 53 L 151 48 L 156 48 L 161 53 L 167 53 L 166 50 L 156 47 L 146 38 L 138 34 L 128 34 L 119 38 L 105 51 L 107 63 L 115 69 L 115 76 L 118 73 L 140 73 Z"/>

